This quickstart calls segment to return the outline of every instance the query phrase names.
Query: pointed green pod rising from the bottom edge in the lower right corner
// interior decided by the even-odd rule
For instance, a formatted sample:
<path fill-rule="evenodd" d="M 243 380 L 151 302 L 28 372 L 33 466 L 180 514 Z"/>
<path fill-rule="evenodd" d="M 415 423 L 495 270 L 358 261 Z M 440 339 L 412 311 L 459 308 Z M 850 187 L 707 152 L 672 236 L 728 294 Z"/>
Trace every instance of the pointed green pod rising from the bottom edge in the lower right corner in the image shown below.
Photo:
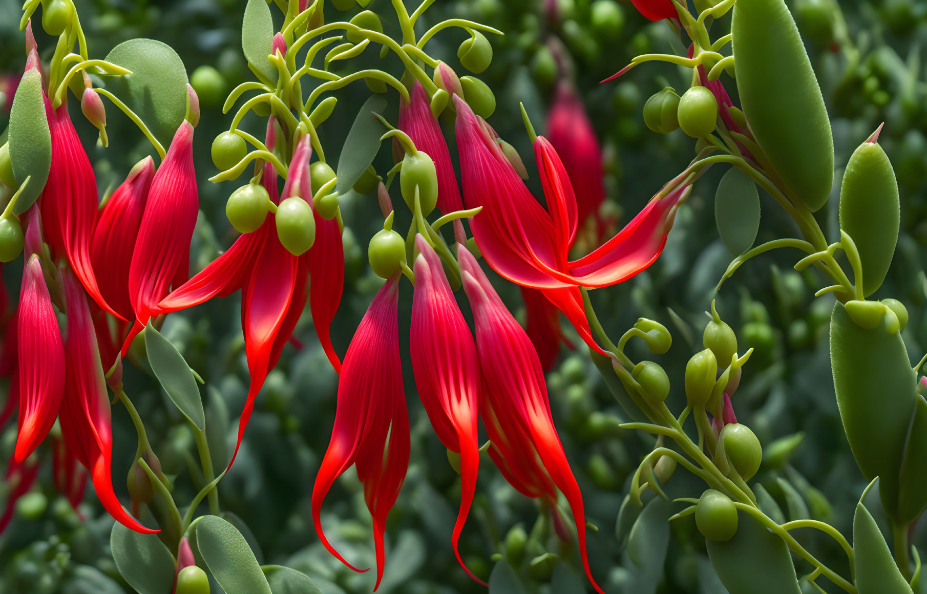
<path fill-rule="evenodd" d="M 859 594 L 913 594 L 898 571 L 879 526 L 862 501 L 857 503 L 857 512 L 853 515 L 853 554 Z"/>

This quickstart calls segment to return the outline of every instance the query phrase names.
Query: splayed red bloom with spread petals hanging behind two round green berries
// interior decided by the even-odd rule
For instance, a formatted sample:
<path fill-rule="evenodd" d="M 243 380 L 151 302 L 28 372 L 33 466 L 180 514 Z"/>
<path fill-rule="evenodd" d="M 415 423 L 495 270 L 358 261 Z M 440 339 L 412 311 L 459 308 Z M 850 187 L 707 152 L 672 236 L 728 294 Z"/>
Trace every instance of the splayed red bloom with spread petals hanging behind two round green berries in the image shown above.
<path fill-rule="evenodd" d="M 273 130 L 272 118 L 267 127 L 269 146 L 273 146 Z M 284 187 L 285 197 L 311 196 L 310 156 L 311 145 L 306 136 L 298 143 L 292 159 L 291 172 Z M 273 165 L 265 164 L 261 183 L 271 200 L 279 202 L 277 174 Z M 268 214 L 260 229 L 242 234 L 219 258 L 164 297 L 158 306 L 159 312 L 184 310 L 212 297 L 227 297 L 239 289 L 242 291 L 242 328 L 251 379 L 248 399 L 238 423 L 235 454 L 248 426 L 254 398 L 260 392 L 267 373 L 280 359 L 307 299 L 310 300 L 312 321 L 325 353 L 336 370 L 341 367 L 328 332 L 344 285 L 344 248 L 337 220 L 325 221 L 316 212 L 315 243 L 308 252 L 298 257 L 280 243 L 275 224 L 273 214 Z M 307 288 L 310 274 L 312 283 Z M 229 467 L 235 461 L 235 454 L 229 461 Z"/>

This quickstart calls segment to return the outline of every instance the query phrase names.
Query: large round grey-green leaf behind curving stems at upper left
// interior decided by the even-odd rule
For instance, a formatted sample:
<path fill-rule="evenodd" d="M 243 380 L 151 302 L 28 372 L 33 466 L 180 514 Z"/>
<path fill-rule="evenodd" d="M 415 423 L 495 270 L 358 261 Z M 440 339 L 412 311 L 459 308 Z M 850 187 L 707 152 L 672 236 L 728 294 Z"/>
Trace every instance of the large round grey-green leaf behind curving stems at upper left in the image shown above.
<path fill-rule="evenodd" d="M 186 115 L 184 61 L 168 44 L 131 39 L 112 49 L 107 61 L 132 70 L 125 76 L 104 77 L 107 88 L 145 122 L 167 147 Z"/>

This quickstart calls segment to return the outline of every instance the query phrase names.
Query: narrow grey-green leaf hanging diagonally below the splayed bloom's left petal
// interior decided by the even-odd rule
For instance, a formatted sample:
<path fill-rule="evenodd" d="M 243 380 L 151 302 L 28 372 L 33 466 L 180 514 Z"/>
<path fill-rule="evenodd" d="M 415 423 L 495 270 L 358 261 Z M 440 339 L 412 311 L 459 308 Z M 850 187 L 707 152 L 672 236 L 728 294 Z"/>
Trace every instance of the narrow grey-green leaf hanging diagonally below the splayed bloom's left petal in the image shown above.
<path fill-rule="evenodd" d="M 148 363 L 158 377 L 164 391 L 171 397 L 177 408 L 184 413 L 190 423 L 202 431 L 206 427 L 206 414 L 203 401 L 199 398 L 197 380 L 193 377 L 183 355 L 148 322 L 145 329 L 145 348 Z"/>

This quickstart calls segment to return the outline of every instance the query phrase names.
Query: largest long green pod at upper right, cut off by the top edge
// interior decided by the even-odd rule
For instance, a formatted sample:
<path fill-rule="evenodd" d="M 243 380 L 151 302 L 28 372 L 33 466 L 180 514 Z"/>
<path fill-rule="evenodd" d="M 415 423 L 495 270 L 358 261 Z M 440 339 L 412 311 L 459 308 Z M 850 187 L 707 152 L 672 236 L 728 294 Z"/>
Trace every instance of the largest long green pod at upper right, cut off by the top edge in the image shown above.
<path fill-rule="evenodd" d="M 783 0 L 737 0 L 730 23 L 737 90 L 756 144 L 809 210 L 833 183 L 833 136 L 818 79 Z"/>

